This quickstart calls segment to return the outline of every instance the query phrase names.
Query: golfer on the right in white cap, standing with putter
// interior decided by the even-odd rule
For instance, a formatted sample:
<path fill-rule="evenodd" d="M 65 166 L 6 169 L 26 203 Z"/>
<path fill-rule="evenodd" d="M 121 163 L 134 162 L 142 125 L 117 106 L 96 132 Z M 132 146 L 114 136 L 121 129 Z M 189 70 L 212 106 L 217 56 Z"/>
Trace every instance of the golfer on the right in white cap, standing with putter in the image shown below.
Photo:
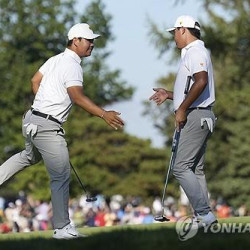
<path fill-rule="evenodd" d="M 206 144 L 215 125 L 213 66 L 200 40 L 200 24 L 193 17 L 178 17 L 167 31 L 181 49 L 174 91 L 155 88 L 150 100 L 158 105 L 173 100 L 176 129 L 181 131 L 173 174 L 189 198 L 199 225 L 208 226 L 217 222 L 209 206 L 204 174 Z"/>

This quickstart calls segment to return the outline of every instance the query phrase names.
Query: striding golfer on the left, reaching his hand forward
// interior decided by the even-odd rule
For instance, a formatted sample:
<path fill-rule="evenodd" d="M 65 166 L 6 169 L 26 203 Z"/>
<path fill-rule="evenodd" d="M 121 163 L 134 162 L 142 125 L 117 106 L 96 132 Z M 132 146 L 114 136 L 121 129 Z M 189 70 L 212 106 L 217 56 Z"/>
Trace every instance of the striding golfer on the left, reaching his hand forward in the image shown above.
<path fill-rule="evenodd" d="M 69 219 L 70 161 L 62 128 L 73 103 L 114 129 L 124 125 L 120 113 L 104 110 L 83 93 L 81 59 L 91 55 L 94 39 L 98 37 L 88 24 L 74 25 L 68 32 L 65 51 L 48 59 L 35 73 L 31 80 L 35 99 L 23 118 L 25 149 L 0 166 L 1 185 L 25 167 L 44 160 L 50 176 L 56 239 L 80 236 Z"/>

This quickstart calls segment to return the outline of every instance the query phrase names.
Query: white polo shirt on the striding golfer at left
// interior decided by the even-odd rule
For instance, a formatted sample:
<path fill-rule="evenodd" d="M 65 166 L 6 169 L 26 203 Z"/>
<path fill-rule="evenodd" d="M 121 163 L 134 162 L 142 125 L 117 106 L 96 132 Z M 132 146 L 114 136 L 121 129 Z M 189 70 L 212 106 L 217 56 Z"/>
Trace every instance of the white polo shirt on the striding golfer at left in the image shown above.
<path fill-rule="evenodd" d="M 83 86 L 81 58 L 72 50 L 48 59 L 39 69 L 43 74 L 32 108 L 65 122 L 72 107 L 67 88 Z"/>

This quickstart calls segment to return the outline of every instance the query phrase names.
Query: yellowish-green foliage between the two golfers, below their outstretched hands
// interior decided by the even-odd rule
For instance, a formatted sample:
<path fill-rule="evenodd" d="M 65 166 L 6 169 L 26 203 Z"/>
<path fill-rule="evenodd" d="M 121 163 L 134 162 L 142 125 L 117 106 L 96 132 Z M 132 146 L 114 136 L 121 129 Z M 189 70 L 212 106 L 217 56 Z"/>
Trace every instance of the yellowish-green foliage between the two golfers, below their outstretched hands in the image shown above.
<path fill-rule="evenodd" d="M 67 128 L 77 127 L 71 119 Z M 152 149 L 150 141 L 113 131 L 99 118 L 86 118 L 81 129 L 69 130 L 72 164 L 92 193 L 106 196 L 122 194 L 141 196 L 151 202 L 160 195 L 165 178 L 165 150 Z M 72 195 L 79 194 L 77 180 L 72 180 Z"/>

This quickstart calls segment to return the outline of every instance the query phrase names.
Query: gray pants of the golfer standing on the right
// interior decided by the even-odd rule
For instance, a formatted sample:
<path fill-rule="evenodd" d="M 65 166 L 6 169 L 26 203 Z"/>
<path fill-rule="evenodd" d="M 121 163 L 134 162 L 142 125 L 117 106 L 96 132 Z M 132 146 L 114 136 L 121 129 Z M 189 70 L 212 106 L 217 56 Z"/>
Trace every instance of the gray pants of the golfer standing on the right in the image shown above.
<path fill-rule="evenodd" d="M 188 112 L 187 123 L 181 130 L 173 174 L 186 193 L 194 211 L 207 214 L 209 206 L 207 183 L 204 174 L 204 159 L 207 140 L 211 135 L 208 123 L 214 126 L 215 116 L 211 110 L 192 110 Z"/>

